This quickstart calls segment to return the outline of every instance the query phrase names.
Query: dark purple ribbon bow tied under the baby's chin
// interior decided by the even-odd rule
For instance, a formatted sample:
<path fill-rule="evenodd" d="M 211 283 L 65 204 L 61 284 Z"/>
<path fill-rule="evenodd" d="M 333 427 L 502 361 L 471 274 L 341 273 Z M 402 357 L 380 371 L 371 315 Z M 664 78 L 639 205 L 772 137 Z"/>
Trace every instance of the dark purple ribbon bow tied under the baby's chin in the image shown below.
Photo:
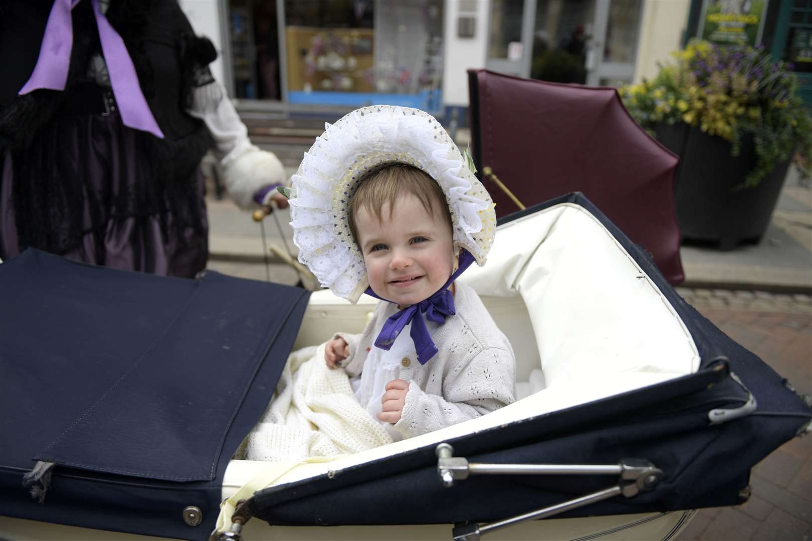
<path fill-rule="evenodd" d="M 417 351 L 417 360 L 421 364 L 429 362 L 429 359 L 437 354 L 437 346 L 431 339 L 429 329 L 425 326 L 425 321 L 420 316 L 425 313 L 425 318 L 434 323 L 445 323 L 447 316 L 454 316 L 454 295 L 448 290 L 451 282 L 455 281 L 458 276 L 473 263 L 473 255 L 467 250 L 460 250 L 460 268 L 451 274 L 445 286 L 441 287 L 437 293 L 431 295 L 429 298 L 417 304 L 405 307 L 403 310 L 389 316 L 386 323 L 383 324 L 381 333 L 375 339 L 375 346 L 382 350 L 389 350 L 392 344 L 395 343 L 395 338 L 398 337 L 400 331 L 406 325 L 412 323 L 412 329 L 409 331 L 409 336 L 412 337 L 414 342 L 414 349 Z M 387 300 L 386 298 L 378 297 L 371 287 L 367 288 L 366 293 L 372 295 L 374 298 Z M 387 301 L 391 302 L 391 301 Z"/>

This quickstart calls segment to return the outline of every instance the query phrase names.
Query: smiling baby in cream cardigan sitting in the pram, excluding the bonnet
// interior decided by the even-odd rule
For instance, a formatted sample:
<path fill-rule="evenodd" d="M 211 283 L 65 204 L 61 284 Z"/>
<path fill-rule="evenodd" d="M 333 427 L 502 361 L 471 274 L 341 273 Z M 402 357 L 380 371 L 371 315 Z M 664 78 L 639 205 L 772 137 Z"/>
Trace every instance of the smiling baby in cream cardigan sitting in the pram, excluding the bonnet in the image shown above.
<path fill-rule="evenodd" d="M 348 205 L 352 240 L 382 301 L 363 333 L 327 342 L 325 360 L 351 376 L 361 406 L 400 440 L 515 401 L 508 339 L 476 292 L 453 281 L 473 258 L 455 253 L 438 182 L 412 165 L 384 165 L 361 180 Z M 409 307 L 418 308 L 400 328 Z"/>

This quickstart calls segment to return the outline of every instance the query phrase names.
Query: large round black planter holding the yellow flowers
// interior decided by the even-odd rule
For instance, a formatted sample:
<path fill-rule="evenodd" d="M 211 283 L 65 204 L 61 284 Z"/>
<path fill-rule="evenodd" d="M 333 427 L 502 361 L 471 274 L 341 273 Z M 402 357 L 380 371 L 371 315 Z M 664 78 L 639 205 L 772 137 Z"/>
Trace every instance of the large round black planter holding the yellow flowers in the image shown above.
<path fill-rule="evenodd" d="M 676 170 L 676 217 L 683 241 L 715 243 L 731 250 L 758 243 L 778 202 L 789 160 L 754 188 L 737 188 L 756 161 L 752 140 L 741 143 L 738 157 L 731 144 L 685 124 L 660 126 L 657 139 L 680 157 Z"/>

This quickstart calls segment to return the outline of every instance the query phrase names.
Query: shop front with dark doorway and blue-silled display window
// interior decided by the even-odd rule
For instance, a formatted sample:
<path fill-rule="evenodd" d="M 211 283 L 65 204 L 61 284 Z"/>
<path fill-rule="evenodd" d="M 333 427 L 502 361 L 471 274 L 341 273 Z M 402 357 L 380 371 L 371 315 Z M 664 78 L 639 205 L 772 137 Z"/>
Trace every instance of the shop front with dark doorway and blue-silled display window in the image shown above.
<path fill-rule="evenodd" d="M 224 15 L 238 99 L 442 108 L 443 0 L 228 0 Z"/>

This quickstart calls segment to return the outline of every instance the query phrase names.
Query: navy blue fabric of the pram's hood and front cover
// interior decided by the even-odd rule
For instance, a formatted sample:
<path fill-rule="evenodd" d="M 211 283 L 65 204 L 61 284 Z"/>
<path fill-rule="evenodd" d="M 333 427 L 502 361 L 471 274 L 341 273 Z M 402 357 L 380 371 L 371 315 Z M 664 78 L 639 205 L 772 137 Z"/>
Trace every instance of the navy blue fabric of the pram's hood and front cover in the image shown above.
<path fill-rule="evenodd" d="M 517 464 L 639 457 L 663 470 L 653 491 L 566 516 L 740 503 L 749 469 L 806 427 L 812 410 L 775 371 L 689 307 L 583 195 L 500 223 L 562 203 L 597 217 L 659 287 L 693 337 L 699 369 L 454 438 L 448 443 L 455 455 Z M 0 287 L 2 513 L 207 539 L 225 466 L 265 409 L 307 294 L 217 273 L 196 281 L 124 273 L 30 250 L 0 265 Z M 755 412 L 747 406 L 753 398 Z M 729 422 L 712 423 L 711 410 L 729 412 L 722 414 Z M 600 476 L 485 475 L 443 487 L 435 447 L 270 487 L 241 509 L 278 525 L 494 521 L 606 484 Z M 34 460 L 58 465 L 44 505 L 20 487 Z M 179 520 L 188 505 L 201 509 L 200 526 Z"/>

